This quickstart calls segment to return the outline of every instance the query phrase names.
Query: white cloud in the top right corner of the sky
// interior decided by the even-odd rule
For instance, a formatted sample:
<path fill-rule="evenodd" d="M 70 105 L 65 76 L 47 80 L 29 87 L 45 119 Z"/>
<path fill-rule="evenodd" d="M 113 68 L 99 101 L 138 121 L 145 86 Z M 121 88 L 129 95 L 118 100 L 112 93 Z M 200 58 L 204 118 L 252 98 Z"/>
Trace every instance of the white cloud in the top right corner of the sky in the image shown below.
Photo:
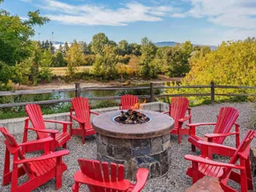
<path fill-rule="evenodd" d="M 190 0 L 184 15 L 207 18 L 214 24 L 240 29 L 256 29 L 255 0 Z M 175 16 L 175 14 L 174 14 Z"/>

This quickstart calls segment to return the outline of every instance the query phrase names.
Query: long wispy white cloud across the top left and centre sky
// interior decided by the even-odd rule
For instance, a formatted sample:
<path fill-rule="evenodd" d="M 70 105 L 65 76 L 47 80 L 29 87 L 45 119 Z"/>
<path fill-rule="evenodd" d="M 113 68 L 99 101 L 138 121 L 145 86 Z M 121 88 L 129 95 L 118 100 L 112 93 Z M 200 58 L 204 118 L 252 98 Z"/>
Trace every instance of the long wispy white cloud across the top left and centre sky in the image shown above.
<path fill-rule="evenodd" d="M 130 22 L 159 22 L 174 11 L 172 6 L 144 6 L 138 2 L 123 4 L 122 8 L 110 9 L 106 6 L 83 4 L 70 5 L 57 0 L 45 0 L 42 9 L 52 21 L 73 25 L 126 26 Z"/>

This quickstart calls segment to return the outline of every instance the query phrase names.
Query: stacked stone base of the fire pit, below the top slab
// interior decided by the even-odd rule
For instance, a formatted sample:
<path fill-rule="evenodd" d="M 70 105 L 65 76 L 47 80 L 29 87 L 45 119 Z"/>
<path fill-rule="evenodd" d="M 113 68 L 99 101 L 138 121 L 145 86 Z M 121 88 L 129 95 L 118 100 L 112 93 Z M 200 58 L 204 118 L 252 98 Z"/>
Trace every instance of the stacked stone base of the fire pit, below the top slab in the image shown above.
<path fill-rule="evenodd" d="M 157 178 L 170 170 L 170 134 L 146 139 L 111 138 L 98 134 L 97 138 L 98 160 L 123 164 L 126 178 L 135 180 L 139 167 L 148 168 L 150 178 Z"/>

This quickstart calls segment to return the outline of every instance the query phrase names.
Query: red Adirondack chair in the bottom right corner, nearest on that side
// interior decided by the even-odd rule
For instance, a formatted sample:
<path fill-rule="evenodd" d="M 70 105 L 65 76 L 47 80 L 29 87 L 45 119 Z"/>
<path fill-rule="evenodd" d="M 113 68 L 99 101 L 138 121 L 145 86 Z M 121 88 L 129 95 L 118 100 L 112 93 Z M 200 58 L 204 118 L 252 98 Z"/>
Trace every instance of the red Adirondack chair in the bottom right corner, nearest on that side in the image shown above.
<path fill-rule="evenodd" d="M 227 186 L 229 179 L 238 182 L 241 185 L 239 191 L 247 192 L 248 190 L 253 190 L 249 154 L 250 142 L 254 137 L 256 137 L 256 131 L 248 130 L 237 149 L 229 146 L 222 146 L 213 142 L 199 141 L 202 145 L 202 156 L 191 154 L 185 155 L 186 160 L 192 162 L 192 166 L 186 171 L 186 174 L 192 178 L 193 183 L 197 182 L 198 179 L 205 175 L 218 178 L 222 189 L 226 192 L 237 191 L 230 186 Z M 207 157 L 207 155 L 208 150 L 212 151 L 212 149 L 221 152 L 219 154 L 231 157 L 230 162 L 225 163 L 210 160 L 210 157 Z M 238 162 L 240 162 L 240 164 L 237 164 Z M 239 170 L 240 174 L 238 171 L 234 170 Z"/>

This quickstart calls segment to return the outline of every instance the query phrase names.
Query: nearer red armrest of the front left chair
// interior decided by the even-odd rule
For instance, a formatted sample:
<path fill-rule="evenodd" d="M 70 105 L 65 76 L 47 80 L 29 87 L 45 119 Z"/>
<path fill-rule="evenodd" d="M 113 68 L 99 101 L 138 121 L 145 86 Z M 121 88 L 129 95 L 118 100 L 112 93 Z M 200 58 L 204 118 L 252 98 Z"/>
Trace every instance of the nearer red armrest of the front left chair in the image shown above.
<path fill-rule="evenodd" d="M 18 161 L 15 161 L 14 164 L 22 164 L 22 163 L 25 163 L 25 162 L 37 162 L 37 161 L 42 161 L 42 160 L 46 160 L 46 159 L 49 159 L 49 158 L 62 157 L 62 156 L 67 155 L 67 154 L 70 154 L 69 150 L 59 150 L 59 151 L 56 151 L 54 153 L 42 155 L 42 156 L 37 157 L 37 158 L 26 158 L 26 159 L 18 160 Z"/>

